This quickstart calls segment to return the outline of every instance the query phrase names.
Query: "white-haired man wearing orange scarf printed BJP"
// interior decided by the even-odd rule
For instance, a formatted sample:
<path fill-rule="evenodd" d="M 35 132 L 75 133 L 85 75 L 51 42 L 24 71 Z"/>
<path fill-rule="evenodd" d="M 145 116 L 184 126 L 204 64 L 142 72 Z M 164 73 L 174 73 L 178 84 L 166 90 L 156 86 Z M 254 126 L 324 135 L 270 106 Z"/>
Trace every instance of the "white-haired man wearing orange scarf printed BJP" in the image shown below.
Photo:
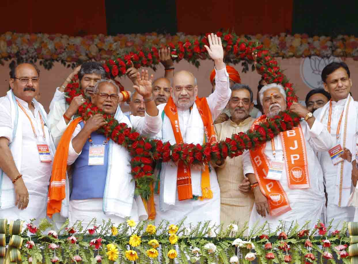
<path fill-rule="evenodd" d="M 263 86 L 259 96 L 264 115 L 254 121 L 251 129 L 258 129 L 255 125 L 261 120 L 270 120 L 287 107 L 280 84 Z M 250 227 L 267 221 L 275 230 L 282 220 L 286 228 L 292 221 L 300 226 L 310 221 L 312 228 L 321 216 L 325 197 L 316 151 L 332 148 L 332 139 L 326 127 L 302 105 L 294 102 L 290 110 L 305 120 L 271 142 L 244 153 L 244 174 L 255 195 Z"/>

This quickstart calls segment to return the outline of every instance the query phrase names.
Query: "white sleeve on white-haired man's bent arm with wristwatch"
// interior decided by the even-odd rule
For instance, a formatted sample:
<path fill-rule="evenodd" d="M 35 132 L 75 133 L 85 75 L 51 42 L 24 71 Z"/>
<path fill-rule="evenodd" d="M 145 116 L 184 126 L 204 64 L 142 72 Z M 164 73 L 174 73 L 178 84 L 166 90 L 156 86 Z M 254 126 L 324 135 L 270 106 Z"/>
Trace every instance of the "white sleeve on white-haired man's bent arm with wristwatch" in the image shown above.
<path fill-rule="evenodd" d="M 301 125 L 305 124 L 306 129 L 308 130 L 308 143 L 316 151 L 328 151 L 333 147 L 332 136 L 328 132 L 327 127 L 322 124 L 318 119 L 313 123 L 313 126 L 310 128 L 306 122 L 302 122 Z M 305 134 L 305 137 L 307 135 Z"/>

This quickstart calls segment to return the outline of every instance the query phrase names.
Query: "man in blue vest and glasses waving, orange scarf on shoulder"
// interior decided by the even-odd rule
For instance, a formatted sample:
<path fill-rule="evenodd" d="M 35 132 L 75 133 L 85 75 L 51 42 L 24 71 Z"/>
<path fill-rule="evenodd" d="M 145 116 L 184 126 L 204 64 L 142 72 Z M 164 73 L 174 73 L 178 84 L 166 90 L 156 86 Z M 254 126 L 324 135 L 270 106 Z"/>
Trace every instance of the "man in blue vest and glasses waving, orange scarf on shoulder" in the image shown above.
<path fill-rule="evenodd" d="M 134 126 L 142 135 L 155 136 L 161 127 L 161 118 L 151 95 L 151 80 L 147 71 L 142 71 L 142 77 L 139 73 L 137 75 L 138 85 L 134 88 L 145 100 L 144 117 L 131 116 L 129 120 L 122 113 L 118 105 L 119 88 L 112 80 L 98 81 L 91 100 L 95 106 L 103 109 L 104 114 L 112 115 L 118 123 L 126 123 L 128 127 Z M 135 221 L 147 218 L 141 198 L 134 199 L 135 182 L 130 174 L 129 152 L 98 132 L 99 129 L 106 129 L 107 125 L 112 126 L 111 122 L 107 124 L 103 114 L 95 114 L 87 121 L 81 117 L 76 118 L 68 126 L 59 143 L 58 151 L 65 149 L 68 152 L 62 160 L 56 156 L 54 168 L 58 164 L 63 164 L 63 161 L 67 161 L 67 165 L 73 164 L 68 210 L 70 225 L 79 220 L 86 226 L 93 218 L 97 218 L 97 221 L 111 219 L 115 225 L 124 222 L 126 217 Z M 62 153 L 59 156 L 62 156 Z M 64 177 L 65 175 L 56 173 L 52 179 L 55 182 Z M 64 187 L 59 188 L 61 190 Z M 49 192 L 49 216 L 52 216 L 56 209 L 61 210 L 52 202 L 56 189 L 50 189 Z"/>

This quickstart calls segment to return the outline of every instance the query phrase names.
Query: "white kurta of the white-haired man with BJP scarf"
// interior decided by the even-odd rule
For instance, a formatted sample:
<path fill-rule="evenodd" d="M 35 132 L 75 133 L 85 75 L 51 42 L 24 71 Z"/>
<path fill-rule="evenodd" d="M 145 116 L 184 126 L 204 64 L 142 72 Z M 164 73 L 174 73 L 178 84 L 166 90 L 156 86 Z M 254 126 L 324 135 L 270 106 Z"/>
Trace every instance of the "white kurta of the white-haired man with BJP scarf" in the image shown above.
<path fill-rule="evenodd" d="M 305 121 L 301 122 L 301 127 L 306 141 L 310 188 L 290 189 L 287 183 L 286 170 L 284 169 L 282 171 L 280 184 L 287 194 L 292 210 L 280 216 L 266 215 L 266 218 L 263 218 L 257 213 L 254 204 L 249 221 L 250 228 L 255 225 L 256 222 L 258 222 L 258 225 L 260 226 L 263 225 L 265 221 L 268 221 L 271 230 L 275 230 L 277 226 L 280 225 L 280 220 L 286 222 L 287 228 L 289 228 L 292 221 L 297 221 L 300 226 L 303 226 L 306 221 L 310 221 L 309 228 L 313 228 L 316 221 L 320 218 L 325 203 L 325 197 L 323 189 L 323 173 L 315 152 L 326 151 L 332 147 L 333 143 L 328 130 L 317 119 L 311 129 Z M 274 141 L 276 160 L 283 160 L 280 136 L 275 136 Z M 249 151 L 246 151 L 243 155 L 244 174 L 254 173 Z M 272 155 L 270 142 L 266 143 L 265 155 L 269 160 L 275 159 L 274 155 Z"/>

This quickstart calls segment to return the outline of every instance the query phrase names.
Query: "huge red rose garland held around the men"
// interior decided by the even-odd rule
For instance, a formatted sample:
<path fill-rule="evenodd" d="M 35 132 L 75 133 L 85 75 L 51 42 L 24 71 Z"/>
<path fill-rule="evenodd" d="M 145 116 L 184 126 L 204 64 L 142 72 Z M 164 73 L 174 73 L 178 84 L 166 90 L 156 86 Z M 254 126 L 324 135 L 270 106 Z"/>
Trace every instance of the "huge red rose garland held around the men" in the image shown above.
<path fill-rule="evenodd" d="M 286 101 L 288 109 L 292 102 L 297 101 L 297 96 L 292 88 L 292 84 L 288 82 L 285 75 L 277 65 L 277 61 L 272 58 L 267 49 L 258 43 L 248 42 L 234 38 L 231 34 L 218 33 L 223 36 L 223 48 L 226 51 L 232 51 L 235 54 L 235 60 L 246 60 L 252 62 L 252 52 L 257 52 L 257 68 L 267 83 L 280 83 L 286 90 Z M 169 44 L 172 49 L 172 58 L 176 61 L 186 59 L 194 64 L 198 63 L 198 59 L 208 57 L 204 45 L 208 45 L 206 36 L 201 40 L 178 42 L 177 45 Z M 132 63 L 135 67 L 151 66 L 159 63 L 158 48 L 152 47 L 146 50 L 139 50 L 137 53 L 124 55 L 117 60 L 108 60 L 105 70 L 108 75 L 114 79 L 116 76 L 125 75 L 126 69 L 130 68 Z M 82 94 L 77 81 L 77 76 L 66 87 L 67 103 Z M 101 109 L 86 101 L 78 109 L 78 114 L 87 120 L 95 113 L 103 113 Z M 244 150 L 251 149 L 256 145 L 272 139 L 282 131 L 292 129 L 296 126 L 299 117 L 286 110 L 274 116 L 269 121 L 255 125 L 253 131 L 238 133 L 226 138 L 224 141 L 215 144 L 205 143 L 197 144 L 180 144 L 170 145 L 169 142 L 163 143 L 160 140 L 149 139 L 141 136 L 134 129 L 128 128 L 126 124 L 118 124 L 118 121 L 111 115 L 103 114 L 103 118 L 107 121 L 107 125 L 103 126 L 100 131 L 109 136 L 114 142 L 128 149 L 132 159 L 131 174 L 136 180 L 136 193 L 140 194 L 144 199 L 148 199 L 150 195 L 150 185 L 153 183 L 154 161 L 162 160 L 163 162 L 183 160 L 187 164 L 208 163 L 209 161 L 217 161 L 227 157 L 233 158 L 240 156 Z"/>

